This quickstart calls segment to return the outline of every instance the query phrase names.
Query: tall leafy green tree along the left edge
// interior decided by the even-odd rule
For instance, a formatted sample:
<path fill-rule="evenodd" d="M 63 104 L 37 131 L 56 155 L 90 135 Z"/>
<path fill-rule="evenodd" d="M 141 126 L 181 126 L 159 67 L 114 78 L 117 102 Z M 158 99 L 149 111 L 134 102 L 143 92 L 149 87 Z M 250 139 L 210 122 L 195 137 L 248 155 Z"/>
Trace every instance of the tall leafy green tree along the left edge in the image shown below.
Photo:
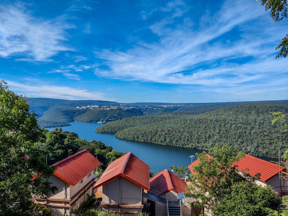
<path fill-rule="evenodd" d="M 26 215 L 32 194 L 46 197 L 57 190 L 47 181 L 54 168 L 33 148 L 39 139 L 36 116 L 25 97 L 0 81 L 0 215 Z"/>

